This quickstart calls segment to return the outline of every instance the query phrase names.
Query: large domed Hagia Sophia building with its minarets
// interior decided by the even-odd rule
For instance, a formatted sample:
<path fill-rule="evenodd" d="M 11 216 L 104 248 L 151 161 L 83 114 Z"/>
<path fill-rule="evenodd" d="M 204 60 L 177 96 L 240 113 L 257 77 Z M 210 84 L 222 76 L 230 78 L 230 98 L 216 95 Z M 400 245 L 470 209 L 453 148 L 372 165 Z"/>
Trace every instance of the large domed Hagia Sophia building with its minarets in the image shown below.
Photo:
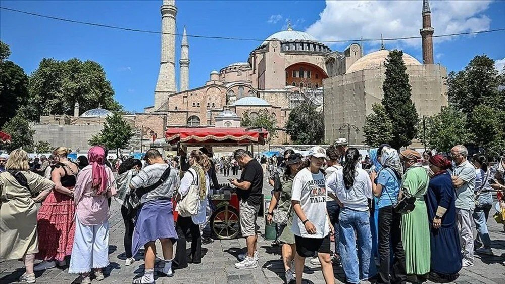
<path fill-rule="evenodd" d="M 428 0 L 423 0 L 422 6 L 420 2 L 420 8 L 423 63 L 406 53 L 403 60 L 412 86 L 412 100 L 419 115 L 423 116 L 436 114 L 447 105 L 444 81 L 447 71 L 444 66 L 433 63 L 434 30 Z M 372 112 L 372 105 L 382 99 L 383 63 L 388 55 L 384 45 L 366 55 L 358 42 L 350 43 L 343 51 L 332 51 L 312 35 L 291 26 L 268 36 L 248 56 L 244 55 L 244 62 L 210 71 L 209 80 L 192 89 L 189 89 L 190 42 L 184 28 L 180 45 L 180 82 L 176 84 L 176 15 L 175 0 L 163 0 L 161 60 L 154 106 L 145 107 L 143 113 L 125 117 L 136 128 L 150 131 L 150 134 L 145 129 L 143 133 L 139 132 L 137 141 L 149 139 L 153 133 L 162 138 L 164 130 L 172 127 L 213 127 L 216 124 L 237 127 L 244 112 L 255 116 L 266 109 L 276 119 L 279 129 L 271 144 L 290 144 L 292 141 L 284 129 L 289 113 L 300 102 L 307 101 L 323 109 L 325 142 L 331 143 L 344 135 L 339 130 L 344 125 L 354 125 L 361 130 L 365 116 Z M 224 117 L 229 121 L 223 123 Z M 70 125 L 72 121 L 81 120 L 78 111 L 74 119 L 68 119 Z M 62 125 L 61 119 L 59 121 Z M 103 118 L 97 121 L 103 121 Z M 36 129 L 37 133 L 40 130 Z M 59 139 L 45 138 L 49 142 L 53 138 Z M 82 137 L 81 140 L 87 139 Z M 355 131 L 349 142 L 362 145 L 363 140 L 363 131 Z M 136 149 L 138 145 L 132 147 Z"/>

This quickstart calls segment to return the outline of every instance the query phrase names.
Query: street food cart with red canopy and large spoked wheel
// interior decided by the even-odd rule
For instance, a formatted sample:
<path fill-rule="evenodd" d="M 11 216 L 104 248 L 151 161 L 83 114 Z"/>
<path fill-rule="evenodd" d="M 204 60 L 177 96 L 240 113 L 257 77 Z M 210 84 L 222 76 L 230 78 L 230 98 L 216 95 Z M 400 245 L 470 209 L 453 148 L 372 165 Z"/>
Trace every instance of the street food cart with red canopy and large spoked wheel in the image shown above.
<path fill-rule="evenodd" d="M 243 147 L 253 152 L 253 145 L 265 145 L 268 132 L 262 128 L 198 127 L 169 128 L 165 140 L 177 149 L 204 146 Z M 182 164 L 182 163 L 181 163 Z M 216 210 L 210 222 L 211 231 L 220 240 L 234 239 L 240 232 L 238 197 L 229 184 L 210 193 Z M 174 207 L 175 208 L 175 207 Z M 177 212 L 174 212 L 174 217 Z"/>

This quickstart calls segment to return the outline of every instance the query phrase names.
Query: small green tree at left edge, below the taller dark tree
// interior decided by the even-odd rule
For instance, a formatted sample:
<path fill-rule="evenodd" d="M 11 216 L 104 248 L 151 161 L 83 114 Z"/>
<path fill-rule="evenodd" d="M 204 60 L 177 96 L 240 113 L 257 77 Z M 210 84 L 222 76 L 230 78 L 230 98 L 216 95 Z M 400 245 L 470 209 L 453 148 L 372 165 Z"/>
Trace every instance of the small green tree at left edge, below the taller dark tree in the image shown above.
<path fill-rule="evenodd" d="M 4 145 L 6 150 L 12 151 L 18 148 L 22 148 L 27 152 L 33 150 L 33 134 L 35 134 L 35 130 L 31 129 L 28 119 L 26 119 L 26 116 L 22 112 L 18 111 L 4 125 L 3 131 L 11 135 L 11 144 Z"/>

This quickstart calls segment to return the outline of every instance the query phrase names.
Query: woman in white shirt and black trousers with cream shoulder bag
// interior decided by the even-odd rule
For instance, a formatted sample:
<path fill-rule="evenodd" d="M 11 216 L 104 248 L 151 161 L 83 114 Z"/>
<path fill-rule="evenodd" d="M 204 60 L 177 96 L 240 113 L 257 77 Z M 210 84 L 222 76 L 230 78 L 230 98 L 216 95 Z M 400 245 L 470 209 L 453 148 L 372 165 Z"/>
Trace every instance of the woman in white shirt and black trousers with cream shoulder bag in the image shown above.
<path fill-rule="evenodd" d="M 177 200 L 185 198 L 190 193 L 192 185 L 198 186 L 198 211 L 192 216 L 177 217 L 177 248 L 172 266 L 185 268 L 188 263 L 201 263 L 201 235 L 200 225 L 205 222 L 207 208 L 207 195 L 210 191 L 210 178 L 207 173 L 211 168 L 211 162 L 206 154 L 200 150 L 193 150 L 188 159 L 191 166 L 181 179 Z M 176 208 L 177 210 L 177 208 Z M 191 254 L 188 259 L 186 253 L 186 239 L 191 233 Z"/>

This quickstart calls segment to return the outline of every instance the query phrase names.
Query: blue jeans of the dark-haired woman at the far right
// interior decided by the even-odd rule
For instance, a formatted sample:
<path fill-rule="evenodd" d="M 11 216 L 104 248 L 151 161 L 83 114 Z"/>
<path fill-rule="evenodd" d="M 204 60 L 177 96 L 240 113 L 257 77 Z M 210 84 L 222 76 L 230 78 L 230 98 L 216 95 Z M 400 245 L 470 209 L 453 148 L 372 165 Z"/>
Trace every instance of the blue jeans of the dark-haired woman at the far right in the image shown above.
<path fill-rule="evenodd" d="M 479 206 L 475 207 L 472 217 L 477 229 L 477 242 L 482 241 L 484 248 L 491 248 L 491 238 L 489 238 L 489 231 L 487 230 L 487 218 L 489 217 L 489 210 L 493 206 L 493 194 L 491 192 L 483 192 L 478 198 Z"/>

